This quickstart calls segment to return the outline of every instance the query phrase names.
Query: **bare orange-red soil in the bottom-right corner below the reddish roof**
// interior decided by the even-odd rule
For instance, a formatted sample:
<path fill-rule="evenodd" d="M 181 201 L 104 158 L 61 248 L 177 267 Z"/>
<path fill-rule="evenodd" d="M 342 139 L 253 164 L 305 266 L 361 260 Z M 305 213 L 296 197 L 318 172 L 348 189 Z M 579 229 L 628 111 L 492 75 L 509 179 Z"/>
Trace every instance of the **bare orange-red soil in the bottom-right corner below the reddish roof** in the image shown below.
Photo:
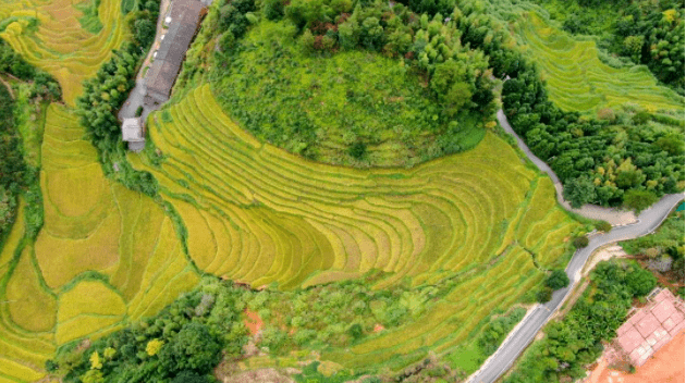
<path fill-rule="evenodd" d="M 593 371 L 592 383 L 683 383 L 686 379 L 684 365 L 684 331 L 664 345 L 646 365 L 636 369 L 635 373 L 618 372 L 610 369 Z M 601 363 L 600 367 L 604 367 Z"/>

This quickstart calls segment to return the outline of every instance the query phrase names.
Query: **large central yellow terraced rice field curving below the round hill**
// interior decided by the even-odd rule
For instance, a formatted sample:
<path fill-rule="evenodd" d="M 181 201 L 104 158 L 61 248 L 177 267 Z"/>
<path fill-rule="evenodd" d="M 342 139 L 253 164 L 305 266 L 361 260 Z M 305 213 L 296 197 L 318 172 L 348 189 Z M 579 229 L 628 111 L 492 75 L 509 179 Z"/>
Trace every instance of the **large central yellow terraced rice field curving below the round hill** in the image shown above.
<path fill-rule="evenodd" d="M 208 85 L 148 119 L 160 166 L 130 155 L 160 181 L 183 219 L 198 268 L 281 288 L 351 279 L 369 270 L 414 284 L 460 275 L 427 318 L 331 360 L 358 367 L 464 342 L 565 260 L 578 227 L 549 178 L 487 133 L 475 149 L 414 169 L 355 170 L 305 161 L 236 126 Z M 171 122 L 163 122 L 171 121 Z"/>

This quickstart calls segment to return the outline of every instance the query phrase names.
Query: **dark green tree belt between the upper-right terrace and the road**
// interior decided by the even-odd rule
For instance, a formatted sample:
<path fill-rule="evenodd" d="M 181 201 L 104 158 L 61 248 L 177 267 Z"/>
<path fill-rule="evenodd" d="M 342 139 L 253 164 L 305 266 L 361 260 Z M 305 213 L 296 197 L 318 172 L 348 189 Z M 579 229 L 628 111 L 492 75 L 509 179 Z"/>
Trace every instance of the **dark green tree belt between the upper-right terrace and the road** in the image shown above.
<path fill-rule="evenodd" d="M 683 132 L 677 126 L 653 128 L 649 120 L 678 121 L 641 111 L 599 113 L 599 119 L 563 112 L 548 99 L 536 65 L 507 47 L 510 36 L 498 32 L 501 22 L 482 5 L 460 1 L 453 18 L 463 41 L 489 54 L 493 73 L 512 77 L 503 85 L 503 110 L 531 151 L 558 174 L 572 206 L 634 205 L 638 199 L 640 207 L 650 200 L 647 194 L 678 190 L 684 180 Z M 636 196 L 636 190 L 642 194 Z M 625 199 L 627 192 L 632 198 Z"/>

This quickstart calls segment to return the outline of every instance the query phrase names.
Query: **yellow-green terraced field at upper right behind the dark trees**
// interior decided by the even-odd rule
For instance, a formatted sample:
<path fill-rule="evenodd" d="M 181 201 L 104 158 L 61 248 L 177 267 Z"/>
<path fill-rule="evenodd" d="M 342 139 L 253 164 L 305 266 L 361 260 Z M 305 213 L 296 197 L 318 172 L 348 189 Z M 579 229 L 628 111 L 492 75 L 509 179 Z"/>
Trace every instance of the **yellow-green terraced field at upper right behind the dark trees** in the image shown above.
<path fill-rule="evenodd" d="M 660 86 L 647 67 L 611 67 L 598 59 L 595 41 L 576 39 L 535 12 L 519 25 L 522 49 L 538 63 L 551 101 L 563 110 L 587 112 L 632 103 L 651 112 L 683 112 L 684 98 Z"/>

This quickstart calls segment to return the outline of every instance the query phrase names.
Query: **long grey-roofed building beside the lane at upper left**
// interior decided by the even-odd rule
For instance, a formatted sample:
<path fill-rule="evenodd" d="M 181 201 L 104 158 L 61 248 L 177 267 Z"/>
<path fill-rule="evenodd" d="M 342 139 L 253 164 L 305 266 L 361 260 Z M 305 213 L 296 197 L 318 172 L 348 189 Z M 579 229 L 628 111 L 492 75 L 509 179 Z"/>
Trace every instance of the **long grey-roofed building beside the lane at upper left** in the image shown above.
<path fill-rule="evenodd" d="M 157 51 L 146 78 L 144 104 L 155 108 L 169 100 L 172 86 L 181 70 L 186 50 L 200 23 L 205 5 L 198 0 L 174 0 L 164 18 L 169 30 Z"/>

